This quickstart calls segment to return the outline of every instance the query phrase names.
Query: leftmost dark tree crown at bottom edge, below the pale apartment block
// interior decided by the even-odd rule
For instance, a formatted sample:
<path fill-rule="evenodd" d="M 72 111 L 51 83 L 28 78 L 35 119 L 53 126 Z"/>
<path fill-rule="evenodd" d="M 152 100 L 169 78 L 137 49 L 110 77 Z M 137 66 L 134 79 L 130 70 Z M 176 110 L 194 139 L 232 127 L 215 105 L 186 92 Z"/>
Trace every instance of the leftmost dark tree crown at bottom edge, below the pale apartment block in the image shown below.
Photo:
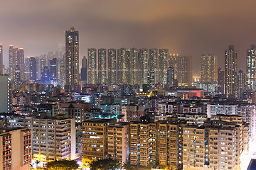
<path fill-rule="evenodd" d="M 78 169 L 78 167 L 79 165 L 75 162 L 75 160 L 53 161 L 46 164 L 46 168 L 50 170 L 75 170 Z"/>

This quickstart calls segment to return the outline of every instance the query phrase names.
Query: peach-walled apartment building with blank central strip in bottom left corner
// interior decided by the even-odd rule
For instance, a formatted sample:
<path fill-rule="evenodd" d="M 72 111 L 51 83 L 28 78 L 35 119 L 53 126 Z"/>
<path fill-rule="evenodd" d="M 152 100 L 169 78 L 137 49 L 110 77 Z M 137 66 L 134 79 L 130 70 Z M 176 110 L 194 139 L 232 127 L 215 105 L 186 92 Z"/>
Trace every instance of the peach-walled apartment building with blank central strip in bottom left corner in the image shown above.
<path fill-rule="evenodd" d="M 32 159 L 31 130 L 14 128 L 0 133 L 0 169 L 27 170 Z"/>

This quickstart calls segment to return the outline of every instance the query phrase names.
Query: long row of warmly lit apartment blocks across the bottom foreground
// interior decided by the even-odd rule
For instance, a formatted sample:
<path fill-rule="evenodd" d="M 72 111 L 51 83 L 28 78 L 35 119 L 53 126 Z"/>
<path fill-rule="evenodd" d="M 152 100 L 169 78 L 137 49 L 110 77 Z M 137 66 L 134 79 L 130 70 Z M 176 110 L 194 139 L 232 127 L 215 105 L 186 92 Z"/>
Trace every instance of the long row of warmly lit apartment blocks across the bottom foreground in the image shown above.
<path fill-rule="evenodd" d="M 133 166 L 170 169 L 237 169 L 248 149 L 249 125 L 221 119 L 189 125 L 177 118 L 157 123 L 115 123 L 95 119 L 82 123 L 84 168 L 93 160 L 118 159 Z"/>

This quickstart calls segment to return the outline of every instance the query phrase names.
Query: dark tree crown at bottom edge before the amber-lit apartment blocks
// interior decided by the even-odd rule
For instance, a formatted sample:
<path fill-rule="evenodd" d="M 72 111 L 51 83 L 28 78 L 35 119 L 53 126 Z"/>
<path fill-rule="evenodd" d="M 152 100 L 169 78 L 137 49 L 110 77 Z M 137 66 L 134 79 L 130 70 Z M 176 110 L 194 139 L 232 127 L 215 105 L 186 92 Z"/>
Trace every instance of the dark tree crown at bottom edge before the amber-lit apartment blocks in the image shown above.
<path fill-rule="evenodd" d="M 122 164 L 119 163 L 117 159 L 100 159 L 90 163 L 91 170 L 114 170 L 120 169 Z"/>

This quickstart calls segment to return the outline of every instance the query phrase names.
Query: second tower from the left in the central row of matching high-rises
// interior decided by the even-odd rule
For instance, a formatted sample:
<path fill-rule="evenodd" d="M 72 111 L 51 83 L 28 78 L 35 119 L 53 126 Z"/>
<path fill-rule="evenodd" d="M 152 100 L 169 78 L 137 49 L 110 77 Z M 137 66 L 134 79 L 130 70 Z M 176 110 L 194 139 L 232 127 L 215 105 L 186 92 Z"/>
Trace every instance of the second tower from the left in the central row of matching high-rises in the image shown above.
<path fill-rule="evenodd" d="M 107 50 L 105 48 L 98 49 L 98 83 L 105 84 L 107 82 Z"/>

